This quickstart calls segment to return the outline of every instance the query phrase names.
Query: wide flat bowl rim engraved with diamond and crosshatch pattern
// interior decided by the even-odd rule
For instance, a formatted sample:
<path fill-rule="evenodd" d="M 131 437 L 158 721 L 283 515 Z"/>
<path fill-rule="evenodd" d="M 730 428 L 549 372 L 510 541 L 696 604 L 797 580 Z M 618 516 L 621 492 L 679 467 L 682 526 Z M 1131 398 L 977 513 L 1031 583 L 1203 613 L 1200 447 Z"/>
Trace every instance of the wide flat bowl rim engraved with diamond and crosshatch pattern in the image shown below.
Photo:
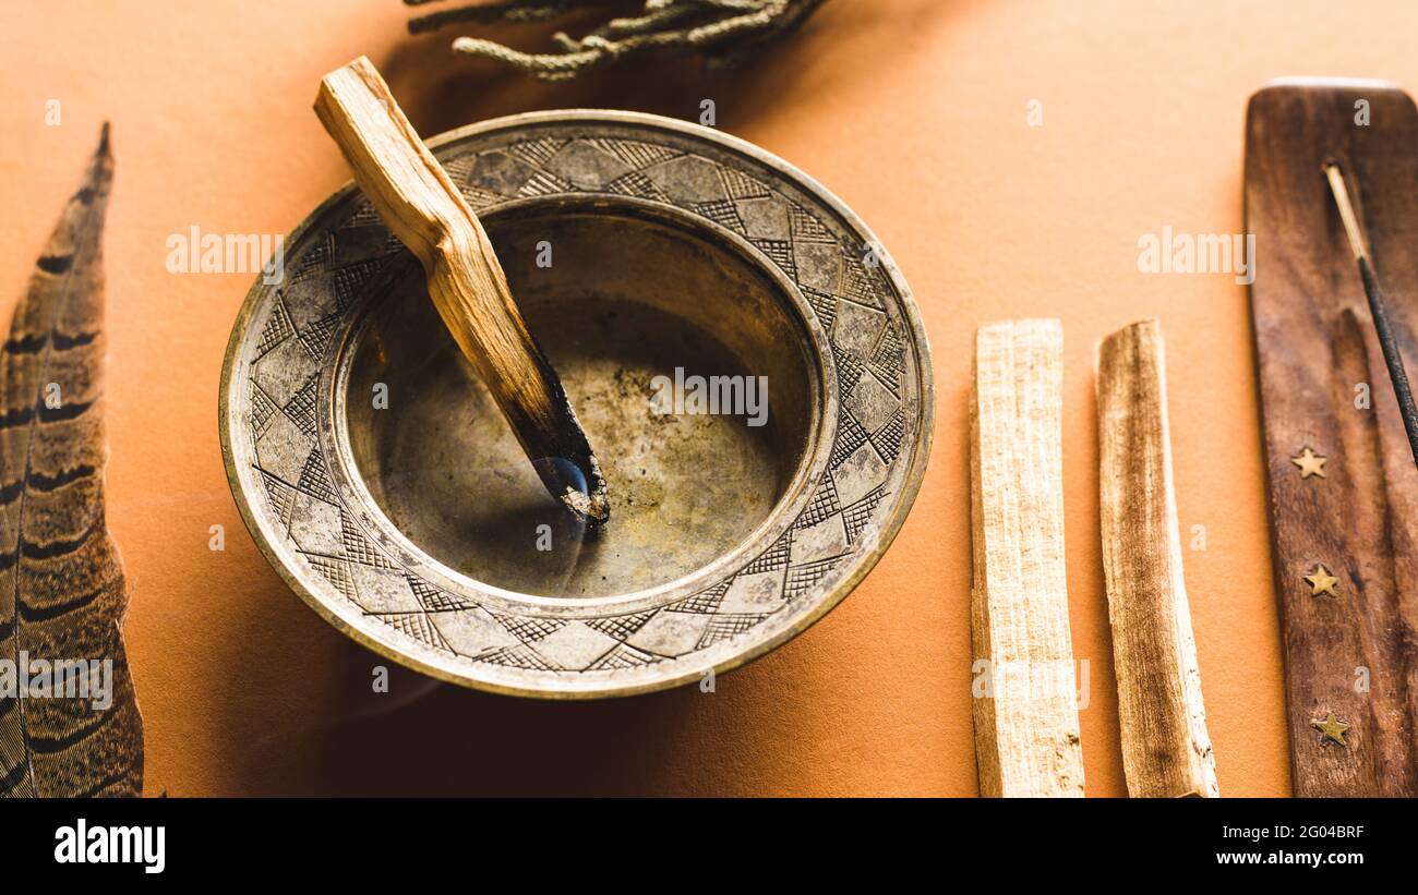
<path fill-rule="evenodd" d="M 794 283 L 821 363 L 808 487 L 746 544 L 631 599 L 512 595 L 442 568 L 391 524 L 335 450 L 336 355 L 406 252 L 350 187 L 258 279 L 223 371 L 233 493 L 277 571 L 322 616 L 444 680 L 596 697 L 699 680 L 787 640 L 869 571 L 905 518 L 930 445 L 929 348 L 891 258 L 841 203 L 747 143 L 658 116 L 554 112 L 431 142 L 474 210 L 607 194 L 674 205 Z M 790 496 L 791 497 L 791 496 Z"/>

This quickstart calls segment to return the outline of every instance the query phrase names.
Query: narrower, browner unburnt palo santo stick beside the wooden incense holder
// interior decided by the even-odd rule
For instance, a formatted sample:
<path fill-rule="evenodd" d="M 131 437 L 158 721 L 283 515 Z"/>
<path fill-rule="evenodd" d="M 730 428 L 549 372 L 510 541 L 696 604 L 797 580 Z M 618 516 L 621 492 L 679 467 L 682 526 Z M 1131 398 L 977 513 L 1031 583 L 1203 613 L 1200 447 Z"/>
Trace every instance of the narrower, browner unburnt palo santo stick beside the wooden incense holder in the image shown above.
<path fill-rule="evenodd" d="M 1156 320 L 1098 344 L 1103 571 L 1130 796 L 1218 796 L 1181 576 Z"/>

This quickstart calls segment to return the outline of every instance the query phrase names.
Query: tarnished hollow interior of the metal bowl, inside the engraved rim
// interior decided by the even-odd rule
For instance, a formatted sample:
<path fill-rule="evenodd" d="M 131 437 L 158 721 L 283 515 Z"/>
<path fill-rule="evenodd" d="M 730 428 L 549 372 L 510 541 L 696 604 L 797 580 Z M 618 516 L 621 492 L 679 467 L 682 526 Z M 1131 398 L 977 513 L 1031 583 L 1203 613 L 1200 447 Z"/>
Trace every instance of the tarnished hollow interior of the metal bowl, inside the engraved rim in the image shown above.
<path fill-rule="evenodd" d="M 821 418 L 791 286 L 727 232 L 632 200 L 530 200 L 484 225 L 601 463 L 611 521 L 587 534 L 546 494 L 410 261 L 337 378 L 342 453 L 389 524 L 450 574 L 552 598 L 637 593 L 750 538 Z"/>

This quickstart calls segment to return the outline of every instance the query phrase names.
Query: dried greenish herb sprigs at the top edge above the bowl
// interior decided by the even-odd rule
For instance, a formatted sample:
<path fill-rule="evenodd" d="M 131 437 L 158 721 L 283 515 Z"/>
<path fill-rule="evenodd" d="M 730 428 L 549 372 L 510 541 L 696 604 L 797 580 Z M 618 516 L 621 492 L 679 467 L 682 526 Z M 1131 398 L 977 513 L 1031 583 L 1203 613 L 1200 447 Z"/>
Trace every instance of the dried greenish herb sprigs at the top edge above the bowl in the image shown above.
<path fill-rule="evenodd" d="M 438 0 L 404 0 L 423 6 Z M 584 71 L 651 54 L 703 57 L 710 67 L 733 65 L 803 24 L 824 0 L 645 0 L 637 16 L 610 18 L 580 38 L 557 31 L 556 52 L 520 52 L 495 41 L 459 37 L 457 52 L 498 59 L 543 81 L 566 81 Z M 502 0 L 441 10 L 408 21 L 410 34 L 458 21 L 552 20 L 615 0 Z"/>

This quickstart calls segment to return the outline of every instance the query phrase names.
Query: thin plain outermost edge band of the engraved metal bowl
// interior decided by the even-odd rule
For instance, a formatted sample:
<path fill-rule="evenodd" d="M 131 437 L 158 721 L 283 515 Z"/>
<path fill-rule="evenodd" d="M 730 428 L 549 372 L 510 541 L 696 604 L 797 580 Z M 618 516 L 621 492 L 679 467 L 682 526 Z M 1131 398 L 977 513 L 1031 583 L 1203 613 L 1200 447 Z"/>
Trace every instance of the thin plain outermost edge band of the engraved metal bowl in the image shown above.
<path fill-rule="evenodd" d="M 795 166 L 778 159 L 773 153 L 763 150 L 746 140 L 726 135 L 723 132 L 693 125 L 689 122 L 682 122 L 678 119 L 671 119 L 659 115 L 651 115 L 644 112 L 627 112 L 627 110 L 607 110 L 607 109 L 554 109 L 542 112 L 526 112 L 519 115 L 509 115 L 496 119 L 489 119 L 484 122 L 476 122 L 467 125 L 464 127 L 457 127 L 448 130 L 428 140 L 431 149 L 438 149 L 447 143 L 454 143 L 468 137 L 489 135 L 495 132 L 512 132 L 526 126 L 537 125 L 556 125 L 556 123 L 610 123 L 610 125 L 630 125 L 630 126 L 644 126 L 651 129 L 664 129 L 669 132 L 676 132 L 685 137 L 706 140 L 712 144 L 719 146 L 730 153 L 737 153 L 752 159 L 757 164 L 764 166 L 773 173 L 784 177 L 787 181 L 795 184 L 798 188 L 810 193 L 815 201 L 821 203 L 828 211 L 835 214 L 842 222 L 849 228 L 861 234 L 872 249 L 876 262 L 881 265 L 883 273 L 889 278 L 900 297 L 900 313 L 902 324 L 909 329 L 909 341 L 916 347 L 915 361 L 919 375 L 917 392 L 920 409 L 917 412 L 919 429 L 913 442 L 913 450 L 910 457 L 910 466 L 902 477 L 900 491 L 896 494 L 889 517 L 886 517 L 879 530 L 873 544 L 869 547 L 864 545 L 864 549 L 854 558 L 849 572 L 841 578 L 830 592 L 820 598 L 815 603 L 808 606 L 804 615 L 791 625 L 787 625 L 783 630 L 774 633 L 770 637 L 752 642 L 726 659 L 719 661 L 683 661 L 676 660 L 679 664 L 686 666 L 682 671 L 672 675 L 659 677 L 649 681 L 641 681 L 634 684 L 624 684 L 615 687 L 605 687 L 597 690 L 579 690 L 579 688 L 553 688 L 553 687 L 529 687 L 516 684 L 503 684 L 499 681 L 488 681 L 481 678 L 474 678 L 467 674 L 461 674 L 445 668 L 440 664 L 425 661 L 418 656 L 408 654 L 380 639 L 360 630 L 359 627 L 347 623 L 340 615 L 326 603 L 323 598 L 313 593 L 302 578 L 288 566 L 284 557 L 279 554 L 277 547 L 269 542 L 262 528 L 261 520 L 254 510 L 251 500 L 248 498 L 245 489 L 241 487 L 241 476 L 234 456 L 233 433 L 230 428 L 230 414 L 231 395 L 233 395 L 233 374 L 235 372 L 241 361 L 241 348 L 245 341 L 245 334 L 251 327 L 252 317 L 258 310 L 261 297 L 264 295 L 264 283 L 258 276 L 248 290 L 245 299 L 242 300 L 241 309 L 233 324 L 231 337 L 228 338 L 227 351 L 223 358 L 221 382 L 218 389 L 218 435 L 223 452 L 223 464 L 227 472 L 228 486 L 231 487 L 234 501 L 241 514 L 242 523 L 245 524 L 248 532 L 251 532 L 258 549 L 265 557 L 267 562 L 277 572 L 277 575 L 291 588 L 305 603 L 308 603 L 320 617 L 329 622 L 333 627 L 345 633 L 352 640 L 360 643 L 362 646 L 386 656 L 411 667 L 417 671 L 428 674 L 437 680 L 459 684 L 464 687 L 471 687 L 475 690 L 499 692 L 505 695 L 519 695 L 519 697 L 535 697 L 546 700 L 586 700 L 586 698 L 604 698 L 604 697 L 620 697 L 620 695 L 634 695 L 641 692 L 652 692 L 659 690 L 668 690 L 674 687 L 681 687 L 691 681 L 702 678 L 702 675 L 713 670 L 715 673 L 725 673 L 732 668 L 740 667 L 764 656 L 766 653 L 777 649 L 787 640 L 791 640 L 797 634 L 803 633 L 820 619 L 822 619 L 828 612 L 831 612 L 838 603 L 841 603 L 861 581 L 871 572 L 881 557 L 886 552 L 891 542 L 895 540 L 902 524 L 909 515 L 910 507 L 919 494 L 922 480 L 925 479 L 925 470 L 930 457 L 930 449 L 933 442 L 933 428 L 934 428 L 934 380 L 932 372 L 932 358 L 930 347 L 926 336 L 925 326 L 920 319 L 919 307 L 915 303 L 912 292 L 900 275 L 899 268 L 891 255 L 885 251 L 881 241 L 876 239 L 875 234 L 866 224 L 852 212 L 837 195 L 827 190 L 817 180 L 808 174 L 798 170 Z M 305 231 L 318 222 L 322 217 L 330 211 L 335 205 L 345 201 L 356 190 L 352 181 L 346 181 L 340 188 L 337 188 L 332 195 L 329 195 L 323 203 L 320 203 L 315 210 L 312 210 L 286 238 L 289 245 L 298 245 L 301 236 Z M 774 515 L 781 508 L 781 503 L 774 507 Z M 771 518 L 771 517 L 770 517 Z"/>

